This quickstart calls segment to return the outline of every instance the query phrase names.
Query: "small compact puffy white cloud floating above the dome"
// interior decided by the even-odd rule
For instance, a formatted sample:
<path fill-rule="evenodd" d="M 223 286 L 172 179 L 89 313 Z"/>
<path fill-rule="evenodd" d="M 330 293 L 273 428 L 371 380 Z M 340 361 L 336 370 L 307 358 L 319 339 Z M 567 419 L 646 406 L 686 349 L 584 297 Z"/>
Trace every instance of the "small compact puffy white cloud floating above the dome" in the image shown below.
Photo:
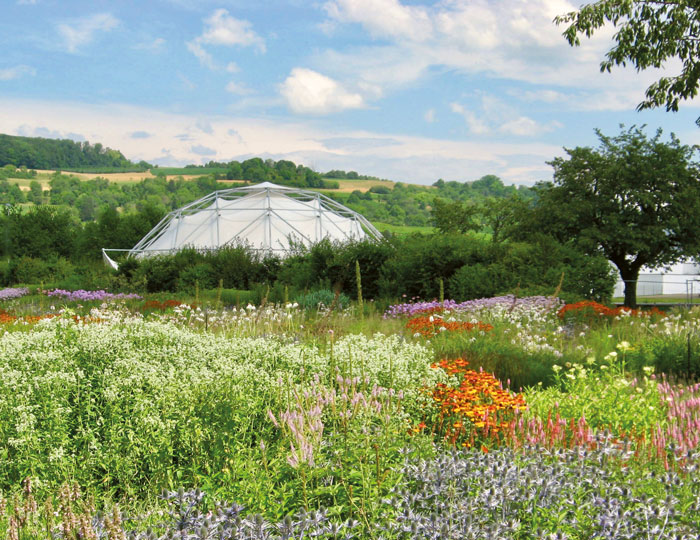
<path fill-rule="evenodd" d="M 349 92 L 333 79 L 305 68 L 294 68 L 282 83 L 280 93 L 292 111 L 302 114 L 327 114 L 365 106 L 360 94 Z"/>

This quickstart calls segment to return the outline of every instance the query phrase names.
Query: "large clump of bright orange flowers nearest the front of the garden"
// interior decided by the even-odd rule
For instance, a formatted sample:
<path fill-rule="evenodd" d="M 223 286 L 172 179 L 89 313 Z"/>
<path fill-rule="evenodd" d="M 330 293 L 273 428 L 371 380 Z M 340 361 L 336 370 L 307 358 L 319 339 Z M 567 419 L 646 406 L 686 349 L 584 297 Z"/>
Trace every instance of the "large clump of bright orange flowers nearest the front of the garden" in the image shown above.
<path fill-rule="evenodd" d="M 438 383 L 429 391 L 432 402 L 439 407 L 433 431 L 451 444 L 462 446 L 472 446 L 476 439 L 497 437 L 508 427 L 513 414 L 525 408 L 522 395 L 504 389 L 491 373 L 467 369 L 468 365 L 463 358 L 445 358 L 433 364 L 433 368 L 456 376 L 459 385 Z M 415 431 L 426 427 L 421 422 Z"/>

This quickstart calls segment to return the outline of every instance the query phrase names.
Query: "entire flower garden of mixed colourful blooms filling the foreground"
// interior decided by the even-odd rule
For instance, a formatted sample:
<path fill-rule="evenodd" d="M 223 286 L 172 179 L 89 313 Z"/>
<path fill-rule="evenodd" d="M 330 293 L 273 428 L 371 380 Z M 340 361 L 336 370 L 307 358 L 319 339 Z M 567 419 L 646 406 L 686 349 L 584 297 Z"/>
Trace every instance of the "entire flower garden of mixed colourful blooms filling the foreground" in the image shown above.
<path fill-rule="evenodd" d="M 0 291 L 11 540 L 700 536 L 700 311 Z"/>

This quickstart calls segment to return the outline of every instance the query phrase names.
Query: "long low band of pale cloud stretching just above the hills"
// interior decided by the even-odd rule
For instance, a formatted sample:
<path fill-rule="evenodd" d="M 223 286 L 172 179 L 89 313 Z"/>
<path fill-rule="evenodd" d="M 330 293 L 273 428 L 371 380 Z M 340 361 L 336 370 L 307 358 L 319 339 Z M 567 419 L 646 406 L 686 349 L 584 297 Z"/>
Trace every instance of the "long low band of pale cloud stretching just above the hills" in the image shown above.
<path fill-rule="evenodd" d="M 231 114 L 198 118 L 113 103 L 89 105 L 0 97 L 0 110 L 0 133 L 18 134 L 20 129 L 39 133 L 42 126 L 61 126 L 63 135 L 79 133 L 91 142 L 121 150 L 131 160 L 162 165 L 200 164 L 211 156 L 220 161 L 261 156 L 314 164 L 318 170 L 361 170 L 422 184 L 432 184 L 438 178 L 474 180 L 485 174 L 496 174 L 506 183 L 532 183 L 546 177 L 540 173 L 529 175 L 528 170 L 546 170 L 544 162 L 563 153 L 559 146 L 529 140 L 502 143 L 409 137 L 337 126 L 321 128 L 279 118 Z M 198 129 L 198 122 L 202 127 L 209 126 L 209 132 Z M 133 138 L 134 126 L 151 136 Z M 340 139 L 343 144 L 338 144 Z M 203 153 L 210 151 L 215 154 Z"/>

